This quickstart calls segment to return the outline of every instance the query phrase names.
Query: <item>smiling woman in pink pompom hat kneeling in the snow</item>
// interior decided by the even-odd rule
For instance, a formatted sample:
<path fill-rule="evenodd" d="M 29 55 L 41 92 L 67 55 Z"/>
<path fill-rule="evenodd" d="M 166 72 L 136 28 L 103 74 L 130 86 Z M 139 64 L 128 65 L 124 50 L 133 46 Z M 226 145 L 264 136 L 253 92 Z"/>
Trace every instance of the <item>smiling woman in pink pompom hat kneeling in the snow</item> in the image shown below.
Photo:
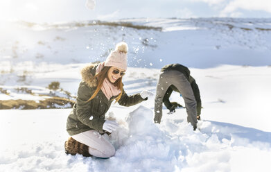
<path fill-rule="evenodd" d="M 130 106 L 141 103 L 150 95 L 147 91 L 132 96 L 125 93 L 122 77 L 127 69 L 127 52 L 127 44 L 120 42 L 105 62 L 82 69 L 76 104 L 67 119 L 67 132 L 71 138 L 65 143 L 66 153 L 83 152 L 78 149 L 85 145 L 89 155 L 95 157 L 112 157 L 115 154 L 114 146 L 101 136 L 118 127 L 115 121 L 105 120 L 112 101 Z"/>

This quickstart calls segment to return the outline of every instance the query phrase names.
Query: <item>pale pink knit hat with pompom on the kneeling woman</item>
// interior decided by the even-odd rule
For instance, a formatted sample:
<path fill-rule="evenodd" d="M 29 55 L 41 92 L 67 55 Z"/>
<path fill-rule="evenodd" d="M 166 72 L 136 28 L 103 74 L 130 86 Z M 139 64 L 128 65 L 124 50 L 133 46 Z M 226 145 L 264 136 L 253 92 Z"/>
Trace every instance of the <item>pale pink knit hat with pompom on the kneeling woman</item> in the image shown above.
<path fill-rule="evenodd" d="M 115 50 L 106 58 L 105 67 L 119 67 L 126 71 L 127 53 L 128 45 L 125 42 L 119 42 L 116 44 Z"/>

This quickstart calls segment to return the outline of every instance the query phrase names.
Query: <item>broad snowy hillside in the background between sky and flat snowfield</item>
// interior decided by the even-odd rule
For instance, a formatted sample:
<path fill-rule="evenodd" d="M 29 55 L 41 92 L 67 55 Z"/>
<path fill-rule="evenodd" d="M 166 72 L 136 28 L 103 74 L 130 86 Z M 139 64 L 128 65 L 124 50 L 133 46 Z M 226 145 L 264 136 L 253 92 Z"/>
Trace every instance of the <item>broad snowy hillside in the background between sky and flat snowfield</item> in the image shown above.
<path fill-rule="evenodd" d="M 271 65 L 271 19 L 10 22 L 0 26 L 0 36 L 0 64 L 103 61 L 117 42 L 125 41 L 129 67 Z"/>

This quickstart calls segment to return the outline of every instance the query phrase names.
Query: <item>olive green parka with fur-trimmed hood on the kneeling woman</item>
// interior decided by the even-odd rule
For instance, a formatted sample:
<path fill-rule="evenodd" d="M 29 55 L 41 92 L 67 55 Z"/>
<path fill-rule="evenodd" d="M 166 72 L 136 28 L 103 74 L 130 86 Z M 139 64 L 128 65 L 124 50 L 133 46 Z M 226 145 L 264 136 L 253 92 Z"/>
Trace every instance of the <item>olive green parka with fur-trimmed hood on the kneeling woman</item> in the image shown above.
<path fill-rule="evenodd" d="M 105 113 L 110 108 L 116 96 L 108 100 L 100 90 L 91 101 L 88 101 L 96 90 L 97 80 L 94 76 L 97 66 L 98 64 L 90 64 L 81 71 L 82 81 L 78 87 L 76 103 L 73 105 L 73 110 L 71 110 L 67 119 L 67 132 L 69 135 L 76 135 L 87 130 L 96 130 L 100 134 L 105 132 L 103 130 Z M 146 99 L 143 99 L 140 94 L 128 96 L 123 89 L 118 103 L 123 106 L 131 106 L 141 103 Z"/>

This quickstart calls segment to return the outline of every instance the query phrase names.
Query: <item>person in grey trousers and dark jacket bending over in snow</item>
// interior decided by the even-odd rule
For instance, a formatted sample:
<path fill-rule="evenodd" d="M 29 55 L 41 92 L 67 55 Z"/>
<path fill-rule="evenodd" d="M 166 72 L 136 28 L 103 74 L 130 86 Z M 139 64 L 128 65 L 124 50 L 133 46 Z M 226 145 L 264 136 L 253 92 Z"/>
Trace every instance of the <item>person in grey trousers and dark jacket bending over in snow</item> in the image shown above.
<path fill-rule="evenodd" d="M 169 101 L 173 91 L 182 94 L 187 112 L 187 121 L 192 124 L 195 130 L 197 128 L 197 119 L 200 119 L 202 106 L 200 90 L 195 83 L 195 79 L 190 76 L 189 69 L 180 64 L 166 65 L 161 69 L 155 96 L 155 123 L 161 122 L 162 103 L 166 105 L 170 112 L 175 112 L 175 103 Z"/>

